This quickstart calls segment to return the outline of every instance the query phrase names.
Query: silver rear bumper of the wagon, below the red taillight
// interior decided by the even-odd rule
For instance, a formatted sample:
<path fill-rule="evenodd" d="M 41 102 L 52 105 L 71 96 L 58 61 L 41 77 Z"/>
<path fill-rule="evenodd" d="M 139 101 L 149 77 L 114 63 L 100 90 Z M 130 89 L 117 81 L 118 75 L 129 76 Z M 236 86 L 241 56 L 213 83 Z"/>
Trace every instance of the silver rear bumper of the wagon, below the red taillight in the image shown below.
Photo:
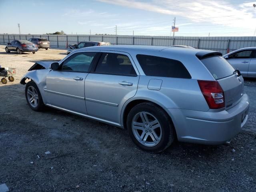
<path fill-rule="evenodd" d="M 247 94 L 236 106 L 220 112 L 168 109 L 178 140 L 200 144 L 222 144 L 230 140 L 246 123 L 248 111 Z"/>

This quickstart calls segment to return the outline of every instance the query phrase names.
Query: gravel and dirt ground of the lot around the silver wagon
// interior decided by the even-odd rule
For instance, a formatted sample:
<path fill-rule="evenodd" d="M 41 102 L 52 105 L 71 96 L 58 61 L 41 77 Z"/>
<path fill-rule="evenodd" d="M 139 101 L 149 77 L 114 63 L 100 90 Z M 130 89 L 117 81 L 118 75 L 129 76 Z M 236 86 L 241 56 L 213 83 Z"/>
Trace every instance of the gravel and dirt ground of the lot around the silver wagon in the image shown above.
<path fill-rule="evenodd" d="M 28 107 L 21 77 L 34 62 L 65 52 L 7 54 L 0 46 L 0 65 L 17 69 L 14 82 L 0 83 L 0 184 L 12 192 L 256 191 L 256 80 L 245 82 L 249 118 L 230 146 L 177 142 L 151 154 L 120 128 Z"/>

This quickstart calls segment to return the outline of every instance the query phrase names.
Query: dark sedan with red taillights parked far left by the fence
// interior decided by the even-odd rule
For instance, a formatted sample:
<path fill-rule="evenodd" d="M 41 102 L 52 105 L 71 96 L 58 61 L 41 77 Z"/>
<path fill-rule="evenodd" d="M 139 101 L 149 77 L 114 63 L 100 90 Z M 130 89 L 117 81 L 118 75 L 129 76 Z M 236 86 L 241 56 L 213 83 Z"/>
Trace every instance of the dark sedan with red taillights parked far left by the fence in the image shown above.
<path fill-rule="evenodd" d="M 14 40 L 7 44 L 5 51 L 16 51 L 18 54 L 22 52 L 32 52 L 33 54 L 38 51 L 38 46 L 28 40 Z"/>

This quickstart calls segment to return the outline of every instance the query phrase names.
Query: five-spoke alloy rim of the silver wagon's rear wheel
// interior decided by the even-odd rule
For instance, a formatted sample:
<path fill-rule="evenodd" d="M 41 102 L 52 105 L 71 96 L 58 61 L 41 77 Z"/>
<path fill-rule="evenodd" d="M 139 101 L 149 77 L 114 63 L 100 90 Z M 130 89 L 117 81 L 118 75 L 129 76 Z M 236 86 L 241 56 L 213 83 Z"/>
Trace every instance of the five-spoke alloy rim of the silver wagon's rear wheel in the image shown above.
<path fill-rule="evenodd" d="M 162 138 L 162 127 L 157 118 L 148 112 L 139 112 L 132 119 L 132 132 L 144 146 L 157 145 Z"/>

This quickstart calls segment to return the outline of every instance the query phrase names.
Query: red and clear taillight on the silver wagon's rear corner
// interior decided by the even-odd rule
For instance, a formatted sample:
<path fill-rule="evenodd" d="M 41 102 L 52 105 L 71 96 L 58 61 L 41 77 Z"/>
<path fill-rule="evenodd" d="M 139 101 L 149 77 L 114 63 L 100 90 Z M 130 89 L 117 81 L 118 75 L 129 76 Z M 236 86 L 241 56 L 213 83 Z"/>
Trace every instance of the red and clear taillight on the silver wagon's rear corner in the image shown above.
<path fill-rule="evenodd" d="M 198 84 L 210 109 L 225 107 L 224 92 L 218 81 L 198 80 Z"/>

